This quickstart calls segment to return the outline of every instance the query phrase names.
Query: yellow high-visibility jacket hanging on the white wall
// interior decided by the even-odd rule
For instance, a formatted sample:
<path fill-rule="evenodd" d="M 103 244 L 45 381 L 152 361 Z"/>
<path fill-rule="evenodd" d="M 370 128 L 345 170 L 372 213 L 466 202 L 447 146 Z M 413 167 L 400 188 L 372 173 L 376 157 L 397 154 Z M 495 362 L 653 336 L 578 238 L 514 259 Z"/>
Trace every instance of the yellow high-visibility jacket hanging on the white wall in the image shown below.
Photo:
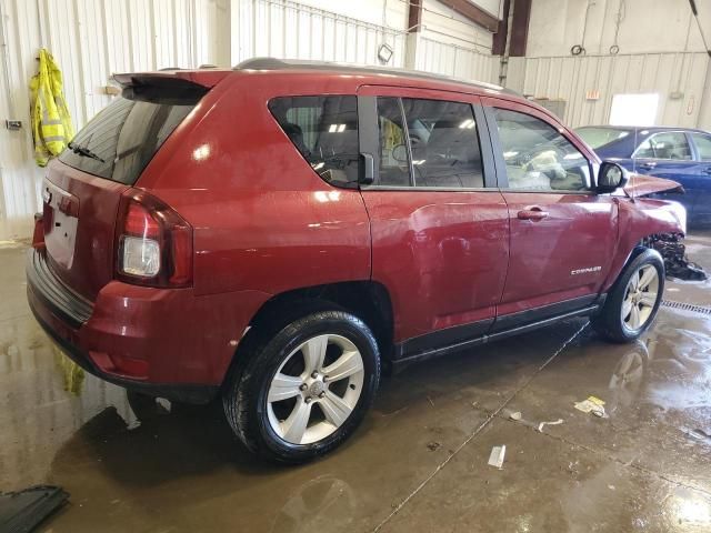
<path fill-rule="evenodd" d="M 62 72 L 51 53 L 40 50 L 39 72 L 30 81 L 34 160 L 40 167 L 59 155 L 74 137 L 62 92 Z"/>

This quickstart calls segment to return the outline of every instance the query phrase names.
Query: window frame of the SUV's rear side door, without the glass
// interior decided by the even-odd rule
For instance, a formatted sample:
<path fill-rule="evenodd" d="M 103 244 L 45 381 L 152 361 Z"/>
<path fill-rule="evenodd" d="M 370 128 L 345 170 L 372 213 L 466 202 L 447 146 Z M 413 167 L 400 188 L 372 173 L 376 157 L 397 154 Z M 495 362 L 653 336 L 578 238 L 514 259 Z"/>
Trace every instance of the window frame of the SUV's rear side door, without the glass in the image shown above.
<path fill-rule="evenodd" d="M 365 91 L 362 91 L 362 90 Z M 365 93 L 363 93 L 365 92 Z M 482 172 L 484 187 L 423 187 L 417 185 L 414 181 L 414 169 L 412 168 L 412 147 L 408 134 L 407 150 L 410 168 L 411 185 L 382 185 L 380 184 L 380 133 L 378 128 L 378 98 L 395 98 L 398 99 L 400 113 L 407 132 L 407 118 L 404 117 L 404 108 L 402 99 L 413 100 L 440 100 L 443 102 L 463 103 L 470 107 L 474 121 L 477 122 L 477 137 L 479 140 L 479 149 L 481 152 Z M 361 113 L 362 111 L 362 113 Z M 407 87 L 392 86 L 362 86 L 358 91 L 358 120 L 359 120 L 359 142 L 361 154 L 371 155 L 374 160 L 373 164 L 373 182 L 370 184 L 361 183 L 360 189 L 363 191 L 424 191 L 424 192 L 491 192 L 498 190 L 497 172 L 494 167 L 493 151 L 491 139 L 487 127 L 481 98 L 475 94 L 444 92 L 423 89 L 412 89 Z"/>

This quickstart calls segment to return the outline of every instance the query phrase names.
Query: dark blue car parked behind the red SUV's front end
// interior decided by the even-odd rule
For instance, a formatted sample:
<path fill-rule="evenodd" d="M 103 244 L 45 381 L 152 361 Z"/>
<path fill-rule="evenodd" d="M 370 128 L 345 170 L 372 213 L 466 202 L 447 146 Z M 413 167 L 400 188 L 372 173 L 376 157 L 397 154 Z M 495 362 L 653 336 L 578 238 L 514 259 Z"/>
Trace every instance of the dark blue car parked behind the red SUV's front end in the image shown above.
<path fill-rule="evenodd" d="M 669 199 L 687 208 L 690 227 L 711 225 L 711 133 L 617 125 L 589 125 L 575 132 L 603 160 L 681 183 L 687 193 L 669 194 Z"/>

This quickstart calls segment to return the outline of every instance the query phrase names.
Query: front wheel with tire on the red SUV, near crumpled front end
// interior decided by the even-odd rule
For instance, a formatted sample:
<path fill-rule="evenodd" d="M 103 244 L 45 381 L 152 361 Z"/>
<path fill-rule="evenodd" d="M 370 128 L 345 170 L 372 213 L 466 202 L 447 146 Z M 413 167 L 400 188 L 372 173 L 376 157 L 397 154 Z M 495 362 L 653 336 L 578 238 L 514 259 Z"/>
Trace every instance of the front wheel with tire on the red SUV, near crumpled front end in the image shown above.
<path fill-rule="evenodd" d="M 664 292 L 664 261 L 657 250 L 645 249 L 624 268 L 612 285 L 594 329 L 612 342 L 632 342 L 657 316 Z"/>

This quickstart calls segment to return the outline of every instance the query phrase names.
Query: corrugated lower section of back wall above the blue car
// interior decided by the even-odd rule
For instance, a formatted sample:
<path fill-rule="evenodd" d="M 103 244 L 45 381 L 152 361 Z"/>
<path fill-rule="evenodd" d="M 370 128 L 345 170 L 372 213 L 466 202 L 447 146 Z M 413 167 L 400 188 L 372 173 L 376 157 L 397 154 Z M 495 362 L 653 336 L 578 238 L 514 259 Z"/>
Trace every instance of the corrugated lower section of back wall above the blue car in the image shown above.
<path fill-rule="evenodd" d="M 572 127 L 604 124 L 619 93 L 660 93 L 657 123 L 694 128 L 704 91 L 704 53 L 583 56 L 511 60 L 512 89 L 535 98 L 565 100 L 563 121 Z M 587 100 L 599 91 L 599 100 Z M 682 98 L 670 98 L 682 92 Z"/>

